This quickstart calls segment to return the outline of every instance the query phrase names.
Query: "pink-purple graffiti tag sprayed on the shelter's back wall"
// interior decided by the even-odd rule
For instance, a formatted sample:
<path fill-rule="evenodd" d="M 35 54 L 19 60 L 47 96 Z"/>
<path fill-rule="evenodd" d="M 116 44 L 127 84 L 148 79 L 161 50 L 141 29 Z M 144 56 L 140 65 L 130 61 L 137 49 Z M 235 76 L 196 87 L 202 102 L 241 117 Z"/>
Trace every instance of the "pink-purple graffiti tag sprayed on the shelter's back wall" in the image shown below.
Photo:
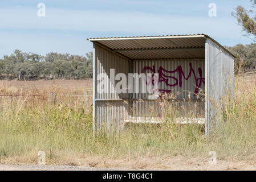
<path fill-rule="evenodd" d="M 185 80 L 188 80 L 192 76 L 192 74 L 193 74 L 194 81 L 196 83 L 195 84 L 196 88 L 194 90 L 194 95 L 196 95 L 199 92 L 199 89 L 200 89 L 202 83 L 205 85 L 205 78 L 202 77 L 202 68 L 198 68 L 199 77 L 197 78 L 196 72 L 192 68 L 192 63 L 189 63 L 189 67 L 190 67 L 189 74 L 186 77 L 185 74 L 184 74 L 184 71 L 182 70 L 181 65 L 179 65 L 173 71 L 168 71 L 168 70 L 166 70 L 166 69 L 164 69 L 164 68 L 162 68 L 160 66 L 159 69 L 158 69 L 159 83 L 160 82 L 165 82 L 165 85 L 167 85 L 167 86 L 173 87 L 173 86 L 177 86 L 178 85 L 181 88 L 182 87 L 182 77 Z M 151 71 L 153 73 L 152 74 L 152 83 L 151 83 L 153 85 L 154 84 L 154 80 L 153 80 L 154 76 L 153 75 L 154 75 L 154 73 L 156 73 L 155 65 L 153 65 L 152 67 L 144 67 L 142 72 L 145 73 L 147 70 L 149 70 L 149 71 Z M 174 76 L 168 76 L 168 75 L 164 74 L 164 73 L 176 73 L 176 72 L 178 72 L 178 78 L 176 78 Z M 169 79 L 173 79 L 175 81 L 174 84 L 169 84 Z M 162 92 L 162 93 L 172 92 L 172 90 L 170 90 L 170 89 L 159 89 L 159 91 Z"/>

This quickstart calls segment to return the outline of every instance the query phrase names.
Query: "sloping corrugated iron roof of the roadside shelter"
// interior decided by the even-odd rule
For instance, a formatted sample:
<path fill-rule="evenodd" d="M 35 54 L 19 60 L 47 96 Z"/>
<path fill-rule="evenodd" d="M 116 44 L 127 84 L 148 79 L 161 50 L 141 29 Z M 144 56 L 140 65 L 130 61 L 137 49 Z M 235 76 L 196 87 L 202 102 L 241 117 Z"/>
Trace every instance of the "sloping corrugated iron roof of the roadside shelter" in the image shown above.
<path fill-rule="evenodd" d="M 128 59 L 198 59 L 205 57 L 205 34 L 90 38 Z M 226 48 L 216 42 L 234 57 Z"/>

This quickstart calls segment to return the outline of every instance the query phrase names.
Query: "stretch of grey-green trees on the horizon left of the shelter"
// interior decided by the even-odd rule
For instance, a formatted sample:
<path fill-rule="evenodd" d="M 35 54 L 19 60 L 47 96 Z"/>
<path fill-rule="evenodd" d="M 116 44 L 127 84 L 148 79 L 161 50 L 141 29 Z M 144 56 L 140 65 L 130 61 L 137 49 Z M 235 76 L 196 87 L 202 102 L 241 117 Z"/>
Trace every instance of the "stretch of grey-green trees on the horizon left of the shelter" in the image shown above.
<path fill-rule="evenodd" d="M 84 79 L 92 78 L 92 52 L 86 56 L 50 52 L 46 56 L 15 50 L 0 59 L 0 79 Z"/>

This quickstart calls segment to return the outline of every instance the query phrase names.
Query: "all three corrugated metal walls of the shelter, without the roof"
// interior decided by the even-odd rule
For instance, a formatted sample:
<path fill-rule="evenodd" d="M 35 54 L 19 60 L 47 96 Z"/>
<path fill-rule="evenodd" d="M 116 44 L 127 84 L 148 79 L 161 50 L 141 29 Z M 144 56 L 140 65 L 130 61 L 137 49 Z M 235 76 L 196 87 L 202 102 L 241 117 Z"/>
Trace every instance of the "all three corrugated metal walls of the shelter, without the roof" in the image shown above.
<path fill-rule="evenodd" d="M 201 82 L 200 88 L 207 94 L 205 109 L 201 107 L 201 110 L 205 110 L 207 134 L 216 119 L 214 102 L 218 103 L 219 98 L 224 95 L 225 87 L 229 88 L 228 83 L 234 86 L 234 58 L 210 39 L 206 39 L 205 47 L 205 60 L 133 60 L 133 64 L 131 64 L 130 60 L 94 44 L 94 130 L 116 131 L 117 129 L 120 131 L 123 121 L 130 119 L 131 116 L 159 116 L 161 113 L 160 102 L 146 101 L 146 94 L 117 94 L 114 86 L 119 81 L 114 81 L 114 83 L 110 81 L 110 69 L 115 69 L 115 75 L 124 73 L 128 78 L 130 71 L 140 74 L 143 70 L 144 73 L 152 73 L 152 70 L 155 69 L 155 73 L 159 73 L 161 67 L 160 75 L 163 77 L 159 89 L 170 90 L 174 96 L 177 96 L 177 100 L 188 98 L 189 93 L 190 98 L 196 100 L 197 97 L 193 95 L 196 90 L 196 80 L 202 81 L 205 77 L 205 84 Z M 192 75 L 185 80 L 184 77 L 188 77 L 190 71 L 192 71 Z M 97 80 L 97 76 L 100 73 L 106 73 L 104 84 L 107 86 L 104 89 L 109 88 L 113 93 L 97 92 L 97 85 L 100 82 Z M 182 85 L 180 86 L 181 81 Z M 172 85 L 176 82 L 178 84 Z M 131 95 L 133 101 L 128 101 Z M 204 98 L 204 92 L 201 97 Z M 133 105 L 131 105 L 132 102 Z M 131 110 L 131 106 L 133 110 Z M 152 109 L 148 111 L 150 107 Z"/>

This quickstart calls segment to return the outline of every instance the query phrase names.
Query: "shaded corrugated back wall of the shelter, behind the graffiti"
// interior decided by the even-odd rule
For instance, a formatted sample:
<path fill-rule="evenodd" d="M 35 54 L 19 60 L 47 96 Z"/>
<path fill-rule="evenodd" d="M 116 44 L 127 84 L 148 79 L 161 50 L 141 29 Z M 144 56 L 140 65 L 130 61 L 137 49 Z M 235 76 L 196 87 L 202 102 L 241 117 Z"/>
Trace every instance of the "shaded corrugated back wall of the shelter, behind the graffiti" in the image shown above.
<path fill-rule="evenodd" d="M 162 71 L 160 70 L 161 68 Z M 179 69 L 181 68 L 181 69 Z M 200 71 L 201 69 L 201 75 Z M 153 70 L 153 71 L 152 71 Z M 174 71 L 174 72 L 173 72 Z M 182 72 L 188 80 L 185 80 L 184 76 L 181 75 L 181 80 L 179 78 Z M 173 73 L 170 73 L 173 72 Z M 191 75 L 189 76 L 189 73 Z M 185 108 L 188 105 L 185 104 L 182 99 L 186 99 L 190 95 L 191 100 L 198 100 L 198 108 L 204 111 L 204 104 L 200 103 L 200 99 L 194 95 L 196 91 L 196 80 L 199 83 L 200 79 L 205 78 L 205 60 L 134 60 L 133 61 L 133 73 L 159 73 L 160 83 L 159 89 L 166 90 L 173 94 L 174 98 L 180 102 L 180 108 Z M 195 73 L 195 75 L 193 74 Z M 196 77 L 194 77 L 196 76 Z M 166 80 L 164 80 L 166 79 Z M 180 86 L 180 82 L 182 85 Z M 177 84 L 177 85 L 176 85 Z M 172 86 L 170 86 L 172 85 Z M 174 86 L 175 85 L 175 86 Z M 141 86 L 141 82 L 140 82 Z M 204 80 L 201 82 L 200 89 L 205 89 Z M 141 91 L 141 89 L 140 89 Z M 132 113 L 133 117 L 158 117 L 161 116 L 161 106 L 160 102 L 145 100 L 147 94 L 143 93 L 133 93 L 133 99 L 139 101 L 133 101 Z M 204 98 L 204 92 L 200 93 L 200 98 Z M 185 110 L 185 109 L 184 109 Z M 201 112 L 202 113 L 202 112 Z M 204 113 L 204 112 L 203 112 Z"/>

